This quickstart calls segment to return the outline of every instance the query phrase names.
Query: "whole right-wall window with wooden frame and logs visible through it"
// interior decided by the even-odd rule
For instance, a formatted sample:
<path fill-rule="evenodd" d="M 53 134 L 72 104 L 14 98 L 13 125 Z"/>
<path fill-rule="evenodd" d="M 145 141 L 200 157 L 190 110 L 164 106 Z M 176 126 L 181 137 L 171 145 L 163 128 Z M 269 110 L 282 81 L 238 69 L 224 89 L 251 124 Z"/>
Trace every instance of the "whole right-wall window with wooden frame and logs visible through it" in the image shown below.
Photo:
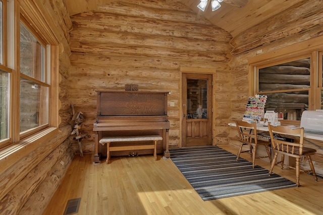
<path fill-rule="evenodd" d="M 249 59 L 249 94 L 266 95 L 265 111 L 300 120 L 304 110 L 323 109 L 323 42 L 310 39 Z"/>

